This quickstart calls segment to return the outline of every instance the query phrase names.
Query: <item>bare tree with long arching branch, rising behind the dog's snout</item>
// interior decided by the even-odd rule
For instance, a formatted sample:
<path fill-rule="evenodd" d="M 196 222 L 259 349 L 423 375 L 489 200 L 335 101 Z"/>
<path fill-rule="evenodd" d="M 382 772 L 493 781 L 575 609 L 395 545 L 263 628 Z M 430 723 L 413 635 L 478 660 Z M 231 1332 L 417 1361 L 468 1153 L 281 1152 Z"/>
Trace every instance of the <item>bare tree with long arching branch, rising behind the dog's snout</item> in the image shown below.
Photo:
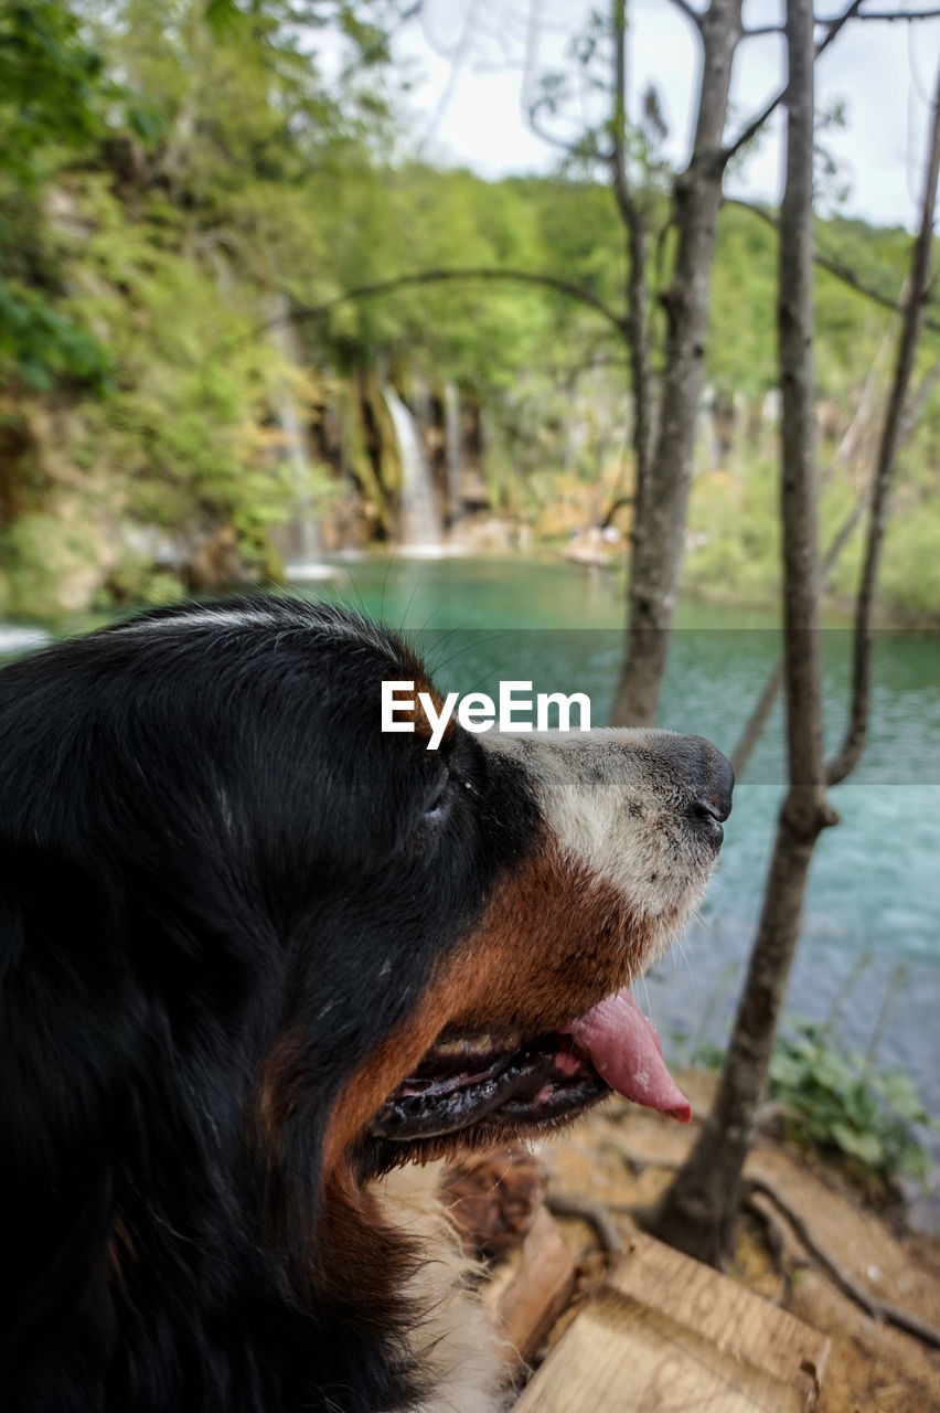
<path fill-rule="evenodd" d="M 631 497 L 634 523 L 627 606 L 628 640 L 611 709 L 613 725 L 652 721 L 662 688 L 685 551 L 696 420 L 704 382 L 711 268 L 718 212 L 724 199 L 724 174 L 733 158 L 752 141 L 786 96 L 783 86 L 734 138 L 725 143 L 734 57 L 744 40 L 764 34 L 766 28 L 744 27 L 742 0 L 710 0 L 701 10 L 689 0 L 672 0 L 672 3 L 694 32 L 700 81 L 692 153 L 685 170 L 675 177 L 670 192 L 669 226 L 675 232 L 675 256 L 668 288 L 656 301 L 665 314 L 666 325 L 661 380 L 653 374 L 651 356 L 649 247 L 652 237 L 662 236 L 663 232 L 651 229 L 645 199 L 648 194 L 642 189 L 642 178 L 638 179 L 637 174 L 631 172 L 627 160 L 627 0 L 610 0 L 607 11 L 608 110 L 600 127 L 589 130 L 576 141 L 569 141 L 550 131 L 543 122 L 545 113 L 556 107 L 553 93 L 549 97 L 536 96 L 526 105 L 529 122 L 539 136 L 567 155 L 579 157 L 591 168 L 605 170 L 608 174 L 625 236 L 627 278 L 622 311 L 611 308 L 593 291 L 550 273 L 447 268 L 415 271 L 350 290 L 327 305 L 295 308 L 292 314 L 294 318 L 320 318 L 333 302 L 373 298 L 402 284 L 493 278 L 519 280 L 555 288 L 580 300 L 617 329 L 628 350 L 634 404 L 635 489 Z M 862 0 L 850 0 L 837 16 L 819 21 L 821 37 L 813 47 L 813 59 L 824 54 L 844 27 L 858 17 L 861 4 Z M 534 28 L 535 17 L 531 14 L 529 34 Z M 459 44 L 462 58 L 466 57 L 469 45 L 466 30 L 467 25 Z M 758 215 L 772 220 L 762 212 Z M 838 261 L 826 260 L 816 252 L 813 259 L 823 261 L 831 273 L 860 292 L 888 307 L 896 307 L 886 295 L 868 288 L 854 271 L 841 267 Z"/>

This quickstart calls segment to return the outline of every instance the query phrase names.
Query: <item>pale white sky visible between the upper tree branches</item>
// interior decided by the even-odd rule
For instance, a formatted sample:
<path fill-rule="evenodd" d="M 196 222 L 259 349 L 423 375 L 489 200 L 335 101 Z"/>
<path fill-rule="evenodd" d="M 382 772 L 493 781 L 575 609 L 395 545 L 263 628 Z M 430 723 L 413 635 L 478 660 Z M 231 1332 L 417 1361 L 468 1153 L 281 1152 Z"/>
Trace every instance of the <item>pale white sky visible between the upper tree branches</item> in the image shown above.
<path fill-rule="evenodd" d="M 701 8 L 701 0 L 693 0 Z M 412 76 L 408 95 L 412 131 L 421 153 L 450 165 L 466 165 L 483 177 L 548 172 L 560 155 L 535 136 L 524 116 L 524 93 L 539 73 L 567 68 L 573 37 L 591 8 L 605 0 L 425 0 L 418 24 L 402 28 L 395 55 Z M 916 0 L 910 8 L 930 8 Z M 837 14 L 841 0 L 819 7 Z M 862 10 L 902 8 L 899 0 L 865 0 Z M 670 0 L 631 0 L 629 112 L 655 83 L 669 136 L 665 154 L 673 164 L 687 160 L 697 92 L 697 37 Z M 779 24 L 782 0 L 745 0 L 745 24 Z M 738 49 L 731 83 L 733 122 L 744 126 L 781 86 L 783 40 L 764 35 Z M 847 25 L 820 58 L 817 107 L 845 105 L 847 124 L 830 129 L 824 141 L 838 161 L 838 185 L 848 189 L 838 206 L 845 215 L 875 225 L 913 229 L 922 187 L 930 95 L 940 64 L 940 18 Z M 576 68 L 576 66 L 574 66 Z M 577 95 L 553 131 L 569 137 L 582 113 L 598 116 L 597 99 Z M 781 195 L 781 133 L 783 114 L 768 124 L 766 137 L 725 189 L 748 199 L 776 202 Z M 834 209 L 831 202 L 824 211 Z"/>

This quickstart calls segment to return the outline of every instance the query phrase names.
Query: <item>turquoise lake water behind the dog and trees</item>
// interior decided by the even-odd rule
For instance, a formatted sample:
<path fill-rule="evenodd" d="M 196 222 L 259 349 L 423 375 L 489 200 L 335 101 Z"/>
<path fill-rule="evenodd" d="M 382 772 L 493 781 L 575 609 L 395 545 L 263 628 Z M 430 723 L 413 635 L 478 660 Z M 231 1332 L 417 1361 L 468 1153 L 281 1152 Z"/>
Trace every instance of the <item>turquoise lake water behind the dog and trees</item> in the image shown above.
<path fill-rule="evenodd" d="M 536 691 L 587 692 L 593 723 L 607 719 L 622 649 L 622 584 L 611 574 L 525 558 L 363 558 L 295 592 L 406 629 L 447 690 L 495 695 L 500 678 L 531 680 Z M 659 725 L 730 753 L 779 643 L 768 613 L 682 605 Z M 831 749 L 847 704 L 844 629 L 824 629 L 824 654 Z M 831 1017 L 847 1044 L 906 1068 L 940 1113 L 940 639 L 882 632 L 874 666 L 869 740 L 831 793 L 841 824 L 816 849 L 788 1010 Z M 782 790 L 778 704 L 738 783 L 700 914 L 641 986 L 673 1060 L 725 1040 Z"/>

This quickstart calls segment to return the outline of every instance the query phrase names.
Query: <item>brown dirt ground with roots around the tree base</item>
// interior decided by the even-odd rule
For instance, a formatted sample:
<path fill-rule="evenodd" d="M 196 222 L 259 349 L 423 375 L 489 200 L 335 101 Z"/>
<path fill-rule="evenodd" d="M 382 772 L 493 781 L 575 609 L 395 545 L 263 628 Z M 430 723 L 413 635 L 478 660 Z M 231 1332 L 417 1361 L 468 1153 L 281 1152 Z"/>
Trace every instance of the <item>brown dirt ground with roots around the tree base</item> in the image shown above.
<path fill-rule="evenodd" d="M 662 1191 L 672 1166 L 694 1140 L 696 1122 L 714 1092 L 711 1075 L 686 1072 L 679 1082 L 696 1115 L 689 1128 L 634 1105 L 620 1113 L 591 1115 L 545 1145 L 541 1157 L 549 1171 L 549 1194 L 574 1193 L 598 1201 L 627 1236 L 634 1229 L 628 1208 L 651 1202 Z M 940 1327 L 940 1243 L 905 1234 L 896 1221 L 865 1210 L 834 1173 L 779 1140 L 761 1139 L 745 1171 L 779 1193 L 812 1239 L 864 1291 Z M 771 1214 L 776 1241 L 768 1239 L 757 1215 L 745 1217 L 728 1276 L 831 1337 L 820 1413 L 937 1413 L 940 1351 L 872 1320 L 841 1293 L 779 1211 L 764 1198 L 757 1201 Z M 591 1224 L 579 1218 L 559 1222 L 579 1262 L 583 1299 L 603 1279 L 605 1258 Z M 549 1342 L 559 1338 L 577 1304 L 579 1297 Z"/>

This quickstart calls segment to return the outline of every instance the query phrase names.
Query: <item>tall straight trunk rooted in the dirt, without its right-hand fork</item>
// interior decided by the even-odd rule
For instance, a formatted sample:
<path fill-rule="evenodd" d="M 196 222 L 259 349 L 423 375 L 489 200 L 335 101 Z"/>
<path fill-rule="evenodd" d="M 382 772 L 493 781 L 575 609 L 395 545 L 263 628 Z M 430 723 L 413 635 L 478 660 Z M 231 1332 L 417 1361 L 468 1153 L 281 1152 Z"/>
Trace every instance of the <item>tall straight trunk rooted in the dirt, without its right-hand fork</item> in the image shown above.
<path fill-rule="evenodd" d="M 781 208 L 783 626 L 789 790 L 781 810 L 764 911 L 710 1121 L 666 1193 L 653 1232 L 724 1266 L 733 1251 L 741 1170 L 766 1082 L 813 848 L 836 817 L 826 803 L 819 633 L 819 531 L 813 383 L 813 8 L 786 6 L 786 189 Z"/>

